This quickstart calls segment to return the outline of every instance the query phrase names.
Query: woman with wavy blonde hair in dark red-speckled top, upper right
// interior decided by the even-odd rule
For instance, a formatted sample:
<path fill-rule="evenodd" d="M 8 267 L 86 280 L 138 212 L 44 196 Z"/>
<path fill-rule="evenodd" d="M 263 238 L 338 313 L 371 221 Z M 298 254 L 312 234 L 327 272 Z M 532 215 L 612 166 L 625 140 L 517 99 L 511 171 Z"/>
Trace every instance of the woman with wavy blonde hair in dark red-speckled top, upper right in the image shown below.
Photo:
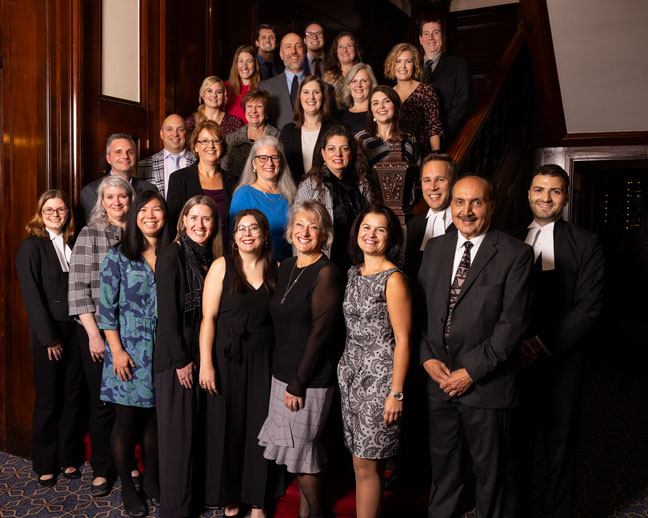
<path fill-rule="evenodd" d="M 416 137 L 424 155 L 439 151 L 443 136 L 439 98 L 432 86 L 421 82 L 418 49 L 411 43 L 395 45 L 385 60 L 385 77 L 396 80 L 394 90 L 402 102 L 401 129 Z"/>

